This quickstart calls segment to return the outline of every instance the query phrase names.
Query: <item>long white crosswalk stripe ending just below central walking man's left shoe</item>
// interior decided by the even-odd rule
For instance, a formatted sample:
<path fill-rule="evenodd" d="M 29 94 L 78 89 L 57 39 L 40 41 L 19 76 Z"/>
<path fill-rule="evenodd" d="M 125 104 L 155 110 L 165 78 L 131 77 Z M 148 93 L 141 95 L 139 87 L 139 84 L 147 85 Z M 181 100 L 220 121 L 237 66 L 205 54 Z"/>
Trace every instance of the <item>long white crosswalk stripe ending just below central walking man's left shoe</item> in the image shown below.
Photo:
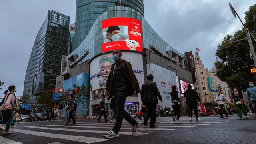
<path fill-rule="evenodd" d="M 64 135 L 64 134 L 52 134 L 46 132 L 36 132 L 31 130 L 20 130 L 20 129 L 13 129 L 14 132 L 20 132 L 24 134 L 30 134 L 34 136 L 43 136 L 47 138 L 59 138 L 63 140 L 72 140 L 76 142 L 84 142 L 84 143 L 94 143 L 94 142 L 103 142 L 107 141 L 108 139 L 104 138 L 94 138 L 94 137 L 87 137 L 87 136 L 72 136 L 72 135 Z"/>

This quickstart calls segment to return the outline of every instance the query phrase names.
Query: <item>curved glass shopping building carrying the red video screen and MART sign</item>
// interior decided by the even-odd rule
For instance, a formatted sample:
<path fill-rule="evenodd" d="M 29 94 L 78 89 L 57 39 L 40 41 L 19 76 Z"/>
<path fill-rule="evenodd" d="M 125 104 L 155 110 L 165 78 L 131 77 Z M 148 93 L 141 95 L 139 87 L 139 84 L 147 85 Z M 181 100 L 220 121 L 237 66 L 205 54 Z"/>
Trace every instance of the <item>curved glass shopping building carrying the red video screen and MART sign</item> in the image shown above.
<path fill-rule="evenodd" d="M 120 34 L 115 41 L 106 40 L 106 30 L 112 26 L 119 27 Z M 114 62 L 111 53 L 114 49 L 122 50 L 122 58 L 132 64 L 140 86 L 146 82 L 148 74 L 155 76 L 164 101 L 160 105 L 164 107 L 171 107 L 173 85 L 182 90 L 188 83 L 193 84 L 187 57 L 165 42 L 139 11 L 125 6 L 111 6 L 98 16 L 82 43 L 68 56 L 62 56 L 61 75 L 56 77 L 56 89 L 59 90 L 62 86 L 65 89 L 64 83 L 70 78 L 81 73 L 89 74 L 92 92 L 87 115 L 98 115 L 96 107 L 106 96 L 108 72 L 102 70 Z M 106 102 L 107 106 L 109 103 Z M 125 105 L 134 113 L 140 110 L 140 104 L 140 94 L 134 93 L 127 98 Z"/>

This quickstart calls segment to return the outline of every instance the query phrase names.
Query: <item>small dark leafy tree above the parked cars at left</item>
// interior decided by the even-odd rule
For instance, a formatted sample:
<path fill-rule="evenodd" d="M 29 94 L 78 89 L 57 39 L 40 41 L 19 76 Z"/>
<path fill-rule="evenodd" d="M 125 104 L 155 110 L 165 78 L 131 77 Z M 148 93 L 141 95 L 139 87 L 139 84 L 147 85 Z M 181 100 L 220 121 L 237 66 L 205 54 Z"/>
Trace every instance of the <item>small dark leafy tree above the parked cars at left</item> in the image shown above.
<path fill-rule="evenodd" d="M 44 107 L 53 108 L 54 102 L 52 101 L 52 92 L 44 92 L 36 99 L 36 104 L 42 104 Z"/>

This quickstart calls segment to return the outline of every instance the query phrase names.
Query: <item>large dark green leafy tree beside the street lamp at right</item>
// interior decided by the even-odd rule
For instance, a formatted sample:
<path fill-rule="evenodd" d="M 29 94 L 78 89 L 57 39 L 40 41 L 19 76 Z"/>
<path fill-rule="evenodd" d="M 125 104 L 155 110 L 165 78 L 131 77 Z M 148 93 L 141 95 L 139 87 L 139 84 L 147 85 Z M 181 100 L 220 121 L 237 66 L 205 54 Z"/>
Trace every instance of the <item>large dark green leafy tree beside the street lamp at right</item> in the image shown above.
<path fill-rule="evenodd" d="M 250 32 L 256 32 L 256 4 L 250 6 L 249 11 L 245 12 L 245 26 Z M 238 21 L 239 22 L 239 21 Z M 255 35 L 255 34 L 254 34 Z M 216 75 L 220 80 L 228 83 L 230 87 L 238 87 L 240 90 L 248 88 L 250 81 L 255 82 L 252 74 L 249 72 L 249 67 L 254 62 L 250 58 L 250 47 L 248 40 L 240 40 L 246 38 L 244 29 L 235 32 L 234 36 L 227 35 L 224 37 L 222 44 L 218 45 L 216 56 L 221 59 L 216 63 Z M 240 40 L 238 42 L 234 42 Z M 231 43 L 234 42 L 234 43 Z M 256 42 L 253 40 L 254 50 Z M 241 68 L 241 69 L 238 69 Z"/>

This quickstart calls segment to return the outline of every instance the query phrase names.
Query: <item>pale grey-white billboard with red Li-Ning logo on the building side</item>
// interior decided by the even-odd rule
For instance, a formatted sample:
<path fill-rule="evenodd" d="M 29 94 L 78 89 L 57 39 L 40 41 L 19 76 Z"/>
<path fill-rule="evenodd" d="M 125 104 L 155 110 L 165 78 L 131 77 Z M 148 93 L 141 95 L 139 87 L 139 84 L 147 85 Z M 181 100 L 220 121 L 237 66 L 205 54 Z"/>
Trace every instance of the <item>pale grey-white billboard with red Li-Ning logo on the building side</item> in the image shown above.
<path fill-rule="evenodd" d="M 158 104 L 163 107 L 171 106 L 172 86 L 176 85 L 176 73 L 156 64 L 147 64 L 147 73 L 154 76 L 157 88 L 162 96 L 162 103 L 158 100 Z"/>

